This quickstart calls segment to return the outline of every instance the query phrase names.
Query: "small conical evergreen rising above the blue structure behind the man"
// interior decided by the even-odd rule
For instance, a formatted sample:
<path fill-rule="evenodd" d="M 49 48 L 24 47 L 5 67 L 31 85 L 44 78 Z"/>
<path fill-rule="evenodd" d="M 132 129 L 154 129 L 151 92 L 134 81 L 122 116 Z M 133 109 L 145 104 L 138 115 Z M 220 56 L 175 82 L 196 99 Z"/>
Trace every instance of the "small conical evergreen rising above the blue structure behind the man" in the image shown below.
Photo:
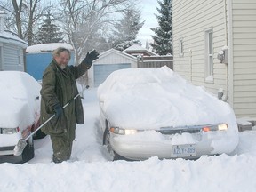
<path fill-rule="evenodd" d="M 60 28 L 54 24 L 55 19 L 51 12 L 48 12 L 46 19 L 43 20 L 43 25 L 39 28 L 38 40 L 42 44 L 63 42 Z"/>

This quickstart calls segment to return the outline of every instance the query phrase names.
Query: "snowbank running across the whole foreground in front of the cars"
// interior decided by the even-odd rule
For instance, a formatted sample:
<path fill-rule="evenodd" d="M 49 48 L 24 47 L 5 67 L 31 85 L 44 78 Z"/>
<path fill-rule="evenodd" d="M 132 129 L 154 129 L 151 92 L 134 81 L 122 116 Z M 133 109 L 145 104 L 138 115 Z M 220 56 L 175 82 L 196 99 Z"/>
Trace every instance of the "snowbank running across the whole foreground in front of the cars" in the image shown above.
<path fill-rule="evenodd" d="M 153 157 L 144 162 L 0 164 L 0 170 L 0 191 L 252 192 L 256 187 L 255 157 L 244 155 L 197 161 Z"/>

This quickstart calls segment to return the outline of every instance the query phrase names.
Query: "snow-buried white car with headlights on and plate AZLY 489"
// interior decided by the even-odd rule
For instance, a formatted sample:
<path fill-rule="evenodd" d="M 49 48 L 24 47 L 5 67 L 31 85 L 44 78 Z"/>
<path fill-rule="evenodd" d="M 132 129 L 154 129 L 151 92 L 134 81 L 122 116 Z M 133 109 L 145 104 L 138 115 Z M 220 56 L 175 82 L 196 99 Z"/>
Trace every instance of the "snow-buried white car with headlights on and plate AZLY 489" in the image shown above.
<path fill-rule="evenodd" d="M 238 144 L 234 111 L 170 68 L 129 68 L 100 84 L 103 144 L 114 160 L 196 159 L 231 153 Z"/>

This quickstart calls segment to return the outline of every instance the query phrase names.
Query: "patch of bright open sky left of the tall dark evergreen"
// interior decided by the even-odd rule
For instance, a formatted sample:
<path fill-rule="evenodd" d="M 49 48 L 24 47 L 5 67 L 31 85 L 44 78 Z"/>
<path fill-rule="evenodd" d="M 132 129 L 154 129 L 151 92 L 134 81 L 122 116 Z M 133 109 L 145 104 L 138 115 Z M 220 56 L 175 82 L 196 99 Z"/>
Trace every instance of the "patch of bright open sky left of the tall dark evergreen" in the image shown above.
<path fill-rule="evenodd" d="M 151 35 L 155 35 L 150 28 L 158 26 L 155 14 L 158 14 L 156 7 L 159 7 L 157 0 L 140 0 L 141 7 L 141 20 L 145 20 L 144 26 L 139 31 L 139 39 L 143 46 L 146 44 L 147 39 L 152 42 Z M 155 14 L 154 14 L 155 13 Z"/>

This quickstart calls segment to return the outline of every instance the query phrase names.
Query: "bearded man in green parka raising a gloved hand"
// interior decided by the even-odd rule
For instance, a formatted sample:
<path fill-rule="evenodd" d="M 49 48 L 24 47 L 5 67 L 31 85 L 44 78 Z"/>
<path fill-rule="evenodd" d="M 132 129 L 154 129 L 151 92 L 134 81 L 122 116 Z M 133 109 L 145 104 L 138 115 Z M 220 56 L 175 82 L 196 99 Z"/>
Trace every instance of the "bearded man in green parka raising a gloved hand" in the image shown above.
<path fill-rule="evenodd" d="M 66 161 L 71 156 L 72 143 L 76 137 L 76 124 L 84 124 L 84 111 L 80 96 L 77 94 L 76 78 L 83 76 L 91 68 L 92 61 L 98 59 L 95 50 L 88 52 L 78 66 L 68 66 L 68 49 L 59 47 L 53 52 L 53 60 L 44 70 L 41 100 L 41 124 L 55 114 L 51 121 L 42 127 L 52 140 L 55 163 Z M 72 100 L 72 101 L 70 101 Z M 70 102 L 69 102 L 70 101 Z M 62 108 L 65 104 L 66 108 Z"/>

